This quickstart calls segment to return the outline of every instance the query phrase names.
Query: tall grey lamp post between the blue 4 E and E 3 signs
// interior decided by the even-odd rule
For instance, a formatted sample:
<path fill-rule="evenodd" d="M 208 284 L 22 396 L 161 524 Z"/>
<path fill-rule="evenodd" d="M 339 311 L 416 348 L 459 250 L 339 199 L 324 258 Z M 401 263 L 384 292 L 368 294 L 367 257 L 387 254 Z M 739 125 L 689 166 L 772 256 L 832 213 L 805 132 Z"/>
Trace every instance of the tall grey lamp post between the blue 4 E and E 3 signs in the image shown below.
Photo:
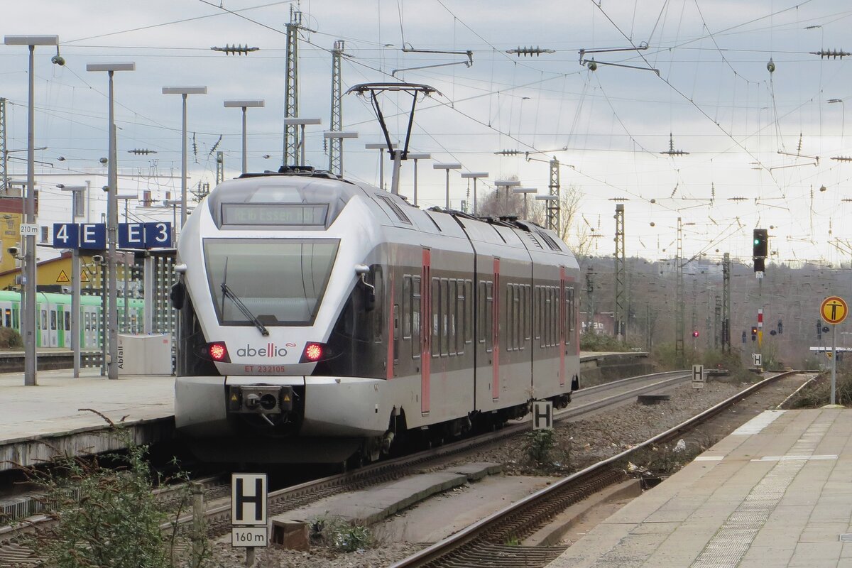
<path fill-rule="evenodd" d="M 107 272 L 109 273 L 109 290 L 107 323 L 109 332 L 108 371 L 110 379 L 118 379 L 118 299 L 115 278 L 116 237 L 118 232 L 118 156 L 115 139 L 115 95 L 112 87 L 112 76 L 117 71 L 135 71 L 135 63 L 89 63 L 86 71 L 107 72 L 109 76 L 109 169 L 107 173 Z"/>

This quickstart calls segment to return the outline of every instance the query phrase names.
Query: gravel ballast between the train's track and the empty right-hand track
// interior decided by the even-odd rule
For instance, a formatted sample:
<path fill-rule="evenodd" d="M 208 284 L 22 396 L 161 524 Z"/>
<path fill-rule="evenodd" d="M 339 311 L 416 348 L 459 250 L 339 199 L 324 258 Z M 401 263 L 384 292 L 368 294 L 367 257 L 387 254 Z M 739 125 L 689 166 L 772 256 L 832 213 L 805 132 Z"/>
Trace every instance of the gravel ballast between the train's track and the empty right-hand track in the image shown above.
<path fill-rule="evenodd" d="M 671 400 L 660 404 L 630 403 L 619 406 L 616 412 L 600 412 L 584 420 L 556 423 L 556 447 L 553 450 L 555 466 L 537 468 L 525 459 L 525 439 L 510 439 L 500 447 L 479 450 L 474 455 L 456 462 L 502 462 L 508 474 L 569 473 L 613 456 L 622 450 L 683 422 L 700 410 L 728 399 L 746 385 L 711 381 L 701 390 L 686 384 L 668 391 Z M 777 404 L 777 403 L 776 403 Z M 760 409 L 763 410 L 763 409 Z M 682 462 L 706 447 L 715 444 L 722 433 L 699 433 L 688 441 L 688 452 L 674 452 L 659 448 L 662 459 L 648 460 L 651 468 L 661 473 L 671 473 L 682 467 Z M 314 547 L 308 552 L 294 552 L 277 548 L 258 548 L 256 566 L 261 568 L 367 568 L 388 566 L 406 558 L 420 547 L 407 543 L 382 543 L 374 548 L 355 553 L 336 553 L 327 548 Z M 216 543 L 210 566 L 236 568 L 245 565 L 245 553 L 231 548 L 230 543 Z"/>

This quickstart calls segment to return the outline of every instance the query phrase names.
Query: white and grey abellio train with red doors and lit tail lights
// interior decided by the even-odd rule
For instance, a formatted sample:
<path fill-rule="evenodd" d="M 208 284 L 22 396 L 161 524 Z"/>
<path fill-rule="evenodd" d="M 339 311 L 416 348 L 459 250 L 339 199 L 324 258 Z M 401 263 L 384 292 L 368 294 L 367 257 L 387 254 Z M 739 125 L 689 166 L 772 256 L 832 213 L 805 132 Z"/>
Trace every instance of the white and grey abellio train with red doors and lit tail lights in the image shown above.
<path fill-rule="evenodd" d="M 206 461 L 371 461 L 579 387 L 579 267 L 531 222 L 246 174 L 195 209 L 178 262 L 176 427 Z"/>

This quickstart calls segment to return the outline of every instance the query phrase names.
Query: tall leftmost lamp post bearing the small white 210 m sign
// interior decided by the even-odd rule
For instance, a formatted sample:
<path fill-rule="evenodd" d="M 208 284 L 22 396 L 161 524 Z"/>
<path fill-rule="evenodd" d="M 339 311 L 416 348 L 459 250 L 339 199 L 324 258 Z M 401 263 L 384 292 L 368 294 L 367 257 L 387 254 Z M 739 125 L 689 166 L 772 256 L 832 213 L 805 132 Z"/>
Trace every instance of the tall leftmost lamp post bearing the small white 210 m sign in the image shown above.
<path fill-rule="evenodd" d="M 35 151 L 35 60 L 37 45 L 59 45 L 59 36 L 6 36 L 6 45 L 26 45 L 30 49 L 29 95 L 27 97 L 26 131 L 26 223 L 36 222 L 36 151 Z M 21 284 L 24 291 L 24 309 L 21 311 L 20 330 L 24 338 L 24 385 L 33 387 L 37 382 L 36 354 L 36 235 L 27 234 L 24 245 L 24 267 Z"/>

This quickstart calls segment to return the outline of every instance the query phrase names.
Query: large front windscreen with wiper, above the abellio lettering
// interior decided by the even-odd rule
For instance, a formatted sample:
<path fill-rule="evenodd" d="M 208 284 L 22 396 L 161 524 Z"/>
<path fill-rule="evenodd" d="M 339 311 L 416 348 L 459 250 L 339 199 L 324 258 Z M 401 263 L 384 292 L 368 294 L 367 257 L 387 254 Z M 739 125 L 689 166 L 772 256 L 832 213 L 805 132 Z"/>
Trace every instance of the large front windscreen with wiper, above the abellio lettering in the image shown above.
<path fill-rule="evenodd" d="M 204 260 L 222 325 L 311 325 L 338 239 L 205 239 Z"/>

